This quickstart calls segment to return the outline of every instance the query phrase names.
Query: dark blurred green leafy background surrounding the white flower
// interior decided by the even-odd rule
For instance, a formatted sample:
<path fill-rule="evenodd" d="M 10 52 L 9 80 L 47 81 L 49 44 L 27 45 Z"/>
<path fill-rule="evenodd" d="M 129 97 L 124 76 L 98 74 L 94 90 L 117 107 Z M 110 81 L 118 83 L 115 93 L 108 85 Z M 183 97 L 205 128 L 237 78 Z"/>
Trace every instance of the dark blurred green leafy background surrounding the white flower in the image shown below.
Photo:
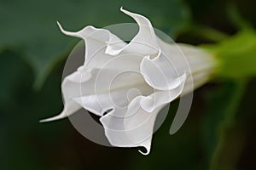
<path fill-rule="evenodd" d="M 253 78 L 196 90 L 187 121 L 170 135 L 173 102 L 149 156 L 94 144 L 68 119 L 38 122 L 61 111 L 62 69 L 79 42 L 62 35 L 56 20 L 70 31 L 134 22 L 121 6 L 177 42 L 195 45 L 239 31 L 231 7 L 256 24 L 253 0 L 0 0 L 0 169 L 255 169 Z"/>

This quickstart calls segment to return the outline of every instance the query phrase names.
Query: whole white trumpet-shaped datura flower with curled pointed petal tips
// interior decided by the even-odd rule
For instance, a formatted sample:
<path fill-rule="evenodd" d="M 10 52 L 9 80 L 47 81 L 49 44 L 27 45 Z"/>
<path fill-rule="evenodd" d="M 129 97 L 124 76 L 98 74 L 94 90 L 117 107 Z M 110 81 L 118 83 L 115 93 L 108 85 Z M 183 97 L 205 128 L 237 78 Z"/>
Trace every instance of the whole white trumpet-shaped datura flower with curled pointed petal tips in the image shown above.
<path fill-rule="evenodd" d="M 106 29 L 86 26 L 71 32 L 58 23 L 67 36 L 84 40 L 85 60 L 61 83 L 61 114 L 41 122 L 71 116 L 84 108 L 100 116 L 110 144 L 142 146 L 147 155 L 159 111 L 184 91 L 187 94 L 207 82 L 216 63 L 201 48 L 162 41 L 143 15 L 120 10 L 139 26 L 129 43 Z M 187 83 L 194 88 L 185 88 Z"/>

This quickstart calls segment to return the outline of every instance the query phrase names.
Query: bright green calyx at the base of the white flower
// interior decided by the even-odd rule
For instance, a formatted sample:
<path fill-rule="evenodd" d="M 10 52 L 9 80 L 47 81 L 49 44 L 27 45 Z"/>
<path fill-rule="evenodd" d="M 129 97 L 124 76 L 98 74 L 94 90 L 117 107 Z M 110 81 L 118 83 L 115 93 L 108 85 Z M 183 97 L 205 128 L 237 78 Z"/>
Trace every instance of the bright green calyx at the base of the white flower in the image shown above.
<path fill-rule="evenodd" d="M 240 79 L 256 76 L 255 31 L 240 31 L 222 42 L 201 47 L 216 56 L 216 77 Z"/>

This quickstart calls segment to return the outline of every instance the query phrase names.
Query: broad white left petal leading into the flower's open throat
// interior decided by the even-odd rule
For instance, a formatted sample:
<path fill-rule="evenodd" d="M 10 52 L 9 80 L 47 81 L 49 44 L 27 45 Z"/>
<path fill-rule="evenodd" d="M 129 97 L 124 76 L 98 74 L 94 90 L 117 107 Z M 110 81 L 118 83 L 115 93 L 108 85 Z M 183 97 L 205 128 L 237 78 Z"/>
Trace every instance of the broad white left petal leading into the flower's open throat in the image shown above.
<path fill-rule="evenodd" d="M 101 69 L 88 71 L 84 66 L 79 67 L 78 71 L 65 77 L 62 82 L 66 114 L 55 116 L 55 119 L 73 114 L 66 111 L 73 102 L 79 108 L 102 116 L 108 110 L 120 110 L 122 113 L 122 109 L 137 95 L 152 94 L 153 88 L 148 86 L 139 73 L 141 59 L 137 55 L 124 54 L 113 57 Z"/>

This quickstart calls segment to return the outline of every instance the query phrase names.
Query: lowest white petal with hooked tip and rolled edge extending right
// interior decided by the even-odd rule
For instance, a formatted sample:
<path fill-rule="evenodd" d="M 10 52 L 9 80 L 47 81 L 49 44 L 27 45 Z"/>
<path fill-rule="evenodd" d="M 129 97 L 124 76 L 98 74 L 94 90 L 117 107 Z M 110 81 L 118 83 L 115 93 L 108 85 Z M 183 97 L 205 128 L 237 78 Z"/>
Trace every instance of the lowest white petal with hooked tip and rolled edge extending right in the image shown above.
<path fill-rule="evenodd" d="M 120 111 L 114 110 L 102 116 L 100 121 L 110 144 L 118 147 L 143 146 L 147 149 L 147 155 L 156 116 L 165 105 L 182 93 L 184 80 L 185 76 L 183 83 L 170 91 L 156 91 L 148 96 L 137 96 L 131 100 L 127 110 L 123 110 L 123 116 L 120 116 Z"/>

